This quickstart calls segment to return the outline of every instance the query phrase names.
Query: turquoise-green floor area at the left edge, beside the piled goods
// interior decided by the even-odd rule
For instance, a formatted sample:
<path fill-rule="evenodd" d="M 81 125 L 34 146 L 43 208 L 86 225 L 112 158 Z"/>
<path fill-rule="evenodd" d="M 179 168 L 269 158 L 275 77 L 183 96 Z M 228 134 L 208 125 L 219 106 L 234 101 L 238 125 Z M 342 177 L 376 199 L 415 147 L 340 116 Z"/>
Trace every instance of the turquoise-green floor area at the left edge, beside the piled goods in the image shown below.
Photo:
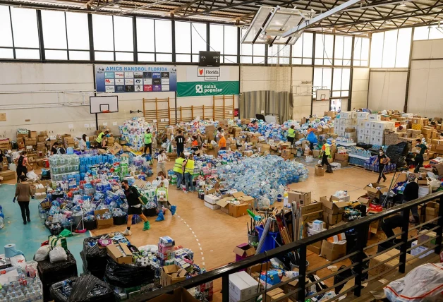
<path fill-rule="evenodd" d="M 38 204 L 40 200 L 30 201 L 31 222 L 26 225 L 23 224 L 20 207 L 17 203 L 12 202 L 15 192 L 16 186 L 6 184 L 0 186 L 0 205 L 3 207 L 5 216 L 5 227 L 0 229 L 0 254 L 4 253 L 6 244 L 14 243 L 16 248 L 25 254 L 26 260 L 32 260 L 35 251 L 40 248 L 42 242 L 47 241 L 51 233 L 44 226 L 44 220 L 39 217 Z M 67 238 L 68 249 L 77 260 L 78 274 L 83 272 L 83 262 L 80 259 L 83 239 L 89 236 L 89 232 L 84 234 L 73 233 L 72 237 Z"/>

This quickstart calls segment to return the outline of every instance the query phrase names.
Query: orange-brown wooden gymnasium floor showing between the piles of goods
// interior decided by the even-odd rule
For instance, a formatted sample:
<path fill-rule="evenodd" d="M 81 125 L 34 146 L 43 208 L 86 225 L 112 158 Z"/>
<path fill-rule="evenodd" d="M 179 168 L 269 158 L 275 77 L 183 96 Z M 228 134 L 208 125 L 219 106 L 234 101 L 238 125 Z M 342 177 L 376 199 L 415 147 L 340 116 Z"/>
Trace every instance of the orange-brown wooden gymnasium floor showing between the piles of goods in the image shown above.
<path fill-rule="evenodd" d="M 303 159 L 302 162 L 304 163 Z M 166 163 L 167 169 L 172 169 L 174 159 Z M 366 171 L 357 167 L 346 167 L 333 174 L 324 174 L 322 177 L 314 175 L 312 163 L 308 166 L 309 177 L 307 181 L 293 183 L 291 189 L 301 191 L 311 191 L 312 200 L 319 200 L 320 196 L 332 195 L 336 191 L 346 190 L 351 195 L 351 200 L 365 194 L 363 188 L 368 184 L 377 181 L 378 174 Z M 157 162 L 154 162 L 154 174 L 157 172 Z M 392 179 L 393 174 L 387 174 L 387 183 Z M 152 181 L 154 176 L 149 180 Z M 15 181 L 6 181 L 15 183 Z M 172 205 L 177 206 L 176 215 L 171 216 L 171 212 L 166 211 L 163 222 L 155 222 L 156 217 L 150 217 L 151 229 L 142 231 L 142 224 L 135 224 L 131 227 L 132 236 L 128 238 L 135 246 L 146 244 L 157 244 L 160 236 L 171 236 L 176 242 L 176 246 L 183 246 L 194 251 L 194 260 L 207 270 L 227 265 L 233 262 L 235 256 L 233 249 L 240 243 L 248 241 L 246 223 L 250 222 L 250 217 L 244 216 L 233 218 L 219 210 L 210 210 L 205 207 L 204 201 L 198 199 L 197 193 L 185 194 L 176 190 L 175 186 L 169 188 L 169 199 Z M 283 203 L 274 203 L 274 206 L 282 207 Z M 109 229 L 91 231 L 92 236 L 107 234 L 112 231 L 124 231 L 126 226 L 116 226 Z M 372 235 L 370 243 L 375 243 L 381 238 L 386 238 L 384 234 Z M 327 260 L 320 258 L 315 253 L 308 250 L 308 261 L 310 269 L 320 267 L 327 263 Z M 349 264 L 344 262 L 343 264 Z M 336 264 L 338 267 L 341 263 Z M 327 268 L 317 272 L 319 277 L 327 276 L 331 271 Z M 328 286 L 333 284 L 331 278 L 325 283 Z M 214 301 L 222 301 L 220 290 L 222 288 L 221 279 L 214 282 Z"/>

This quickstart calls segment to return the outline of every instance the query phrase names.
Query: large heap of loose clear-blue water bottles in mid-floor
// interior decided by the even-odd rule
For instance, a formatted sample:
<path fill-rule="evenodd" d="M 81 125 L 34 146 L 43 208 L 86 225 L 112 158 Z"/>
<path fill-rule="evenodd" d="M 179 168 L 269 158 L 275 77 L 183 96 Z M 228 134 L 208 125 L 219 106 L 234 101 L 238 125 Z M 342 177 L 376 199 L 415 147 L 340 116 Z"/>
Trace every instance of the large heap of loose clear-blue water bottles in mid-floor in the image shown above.
<path fill-rule="evenodd" d="M 248 157 L 237 164 L 227 164 L 217 169 L 217 174 L 227 189 L 236 189 L 255 199 L 277 200 L 281 188 L 289 183 L 305 181 L 308 169 L 299 162 L 285 161 L 276 155 Z"/>

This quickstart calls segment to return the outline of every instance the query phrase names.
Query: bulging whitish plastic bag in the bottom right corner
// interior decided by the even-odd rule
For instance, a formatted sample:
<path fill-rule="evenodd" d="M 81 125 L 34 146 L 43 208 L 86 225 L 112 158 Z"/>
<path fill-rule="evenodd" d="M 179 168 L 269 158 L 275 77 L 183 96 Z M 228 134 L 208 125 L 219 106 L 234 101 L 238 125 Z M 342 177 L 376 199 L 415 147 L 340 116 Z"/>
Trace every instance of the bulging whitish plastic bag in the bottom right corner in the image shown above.
<path fill-rule="evenodd" d="M 384 287 L 389 301 L 419 302 L 443 301 L 443 264 L 427 263 L 415 267 L 405 277 L 395 280 Z"/>

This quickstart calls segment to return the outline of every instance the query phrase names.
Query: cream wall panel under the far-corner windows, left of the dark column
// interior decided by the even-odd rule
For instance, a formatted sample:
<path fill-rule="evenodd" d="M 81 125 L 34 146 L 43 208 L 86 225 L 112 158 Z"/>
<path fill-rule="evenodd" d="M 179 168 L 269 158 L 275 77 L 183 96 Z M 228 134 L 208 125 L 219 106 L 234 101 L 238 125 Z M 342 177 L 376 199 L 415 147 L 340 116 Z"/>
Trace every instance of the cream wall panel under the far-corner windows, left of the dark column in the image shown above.
<path fill-rule="evenodd" d="M 368 108 L 372 110 L 403 110 L 407 78 L 406 68 L 371 68 Z"/>

